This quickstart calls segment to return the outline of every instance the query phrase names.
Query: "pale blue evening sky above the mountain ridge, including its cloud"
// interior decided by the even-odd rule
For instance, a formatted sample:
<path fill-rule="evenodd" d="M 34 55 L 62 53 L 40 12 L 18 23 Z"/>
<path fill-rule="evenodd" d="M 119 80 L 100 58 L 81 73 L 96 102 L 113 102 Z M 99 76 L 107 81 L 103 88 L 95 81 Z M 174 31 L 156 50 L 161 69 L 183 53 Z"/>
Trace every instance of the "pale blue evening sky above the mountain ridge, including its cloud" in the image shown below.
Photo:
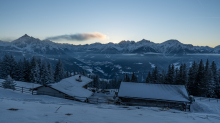
<path fill-rule="evenodd" d="M 0 40 L 220 45 L 220 0 L 0 0 Z"/>

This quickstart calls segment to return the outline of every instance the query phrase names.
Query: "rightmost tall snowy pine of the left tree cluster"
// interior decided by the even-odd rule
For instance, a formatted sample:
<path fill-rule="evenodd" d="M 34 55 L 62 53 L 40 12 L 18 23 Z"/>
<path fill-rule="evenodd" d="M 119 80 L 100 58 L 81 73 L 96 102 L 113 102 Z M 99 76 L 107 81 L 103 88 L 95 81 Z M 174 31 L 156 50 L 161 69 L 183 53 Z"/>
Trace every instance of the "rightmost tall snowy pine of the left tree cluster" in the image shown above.
<path fill-rule="evenodd" d="M 57 65 L 56 65 L 56 68 L 55 68 L 54 80 L 56 82 L 59 82 L 61 79 L 64 79 L 64 78 L 65 78 L 65 72 L 63 69 L 63 63 L 59 59 Z"/>

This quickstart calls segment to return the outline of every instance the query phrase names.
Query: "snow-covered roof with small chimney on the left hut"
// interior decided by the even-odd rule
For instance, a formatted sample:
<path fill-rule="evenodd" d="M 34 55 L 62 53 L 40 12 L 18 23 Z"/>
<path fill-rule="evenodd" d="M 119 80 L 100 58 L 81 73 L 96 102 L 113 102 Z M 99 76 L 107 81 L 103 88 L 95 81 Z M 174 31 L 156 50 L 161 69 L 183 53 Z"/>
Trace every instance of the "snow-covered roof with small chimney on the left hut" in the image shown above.
<path fill-rule="evenodd" d="M 78 75 L 61 80 L 58 83 L 51 84 L 51 87 L 70 96 L 89 97 L 92 92 L 83 88 L 84 85 L 92 81 L 92 79 L 81 76 L 82 82 L 76 81 Z"/>

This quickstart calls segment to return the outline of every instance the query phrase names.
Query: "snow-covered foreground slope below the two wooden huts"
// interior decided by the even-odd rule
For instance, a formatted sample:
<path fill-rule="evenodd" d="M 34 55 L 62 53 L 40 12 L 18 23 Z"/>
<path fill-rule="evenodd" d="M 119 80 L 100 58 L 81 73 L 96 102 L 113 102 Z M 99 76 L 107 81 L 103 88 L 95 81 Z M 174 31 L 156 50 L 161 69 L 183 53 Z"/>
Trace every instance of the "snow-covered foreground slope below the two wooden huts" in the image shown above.
<path fill-rule="evenodd" d="M 8 110 L 10 108 L 18 110 Z M 46 95 L 22 94 L 0 88 L 1 123 L 220 122 L 220 103 L 196 101 L 194 108 L 198 110 L 193 109 L 192 112 L 174 109 L 161 111 L 161 108 L 157 107 L 94 105 Z"/>

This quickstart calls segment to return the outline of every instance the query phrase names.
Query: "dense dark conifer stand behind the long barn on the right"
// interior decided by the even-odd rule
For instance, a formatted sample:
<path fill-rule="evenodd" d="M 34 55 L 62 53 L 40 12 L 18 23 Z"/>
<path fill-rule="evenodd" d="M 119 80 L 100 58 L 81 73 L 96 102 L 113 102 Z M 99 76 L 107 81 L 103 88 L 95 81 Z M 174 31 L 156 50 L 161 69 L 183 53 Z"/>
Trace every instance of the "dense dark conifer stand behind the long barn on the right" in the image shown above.
<path fill-rule="evenodd" d="M 167 72 L 159 72 L 155 67 L 148 73 L 146 83 L 185 85 L 190 95 L 220 97 L 220 69 L 214 61 L 210 64 L 208 59 L 205 64 L 203 60 L 199 63 L 194 61 L 189 68 L 186 64 L 179 68 L 172 64 Z"/>

